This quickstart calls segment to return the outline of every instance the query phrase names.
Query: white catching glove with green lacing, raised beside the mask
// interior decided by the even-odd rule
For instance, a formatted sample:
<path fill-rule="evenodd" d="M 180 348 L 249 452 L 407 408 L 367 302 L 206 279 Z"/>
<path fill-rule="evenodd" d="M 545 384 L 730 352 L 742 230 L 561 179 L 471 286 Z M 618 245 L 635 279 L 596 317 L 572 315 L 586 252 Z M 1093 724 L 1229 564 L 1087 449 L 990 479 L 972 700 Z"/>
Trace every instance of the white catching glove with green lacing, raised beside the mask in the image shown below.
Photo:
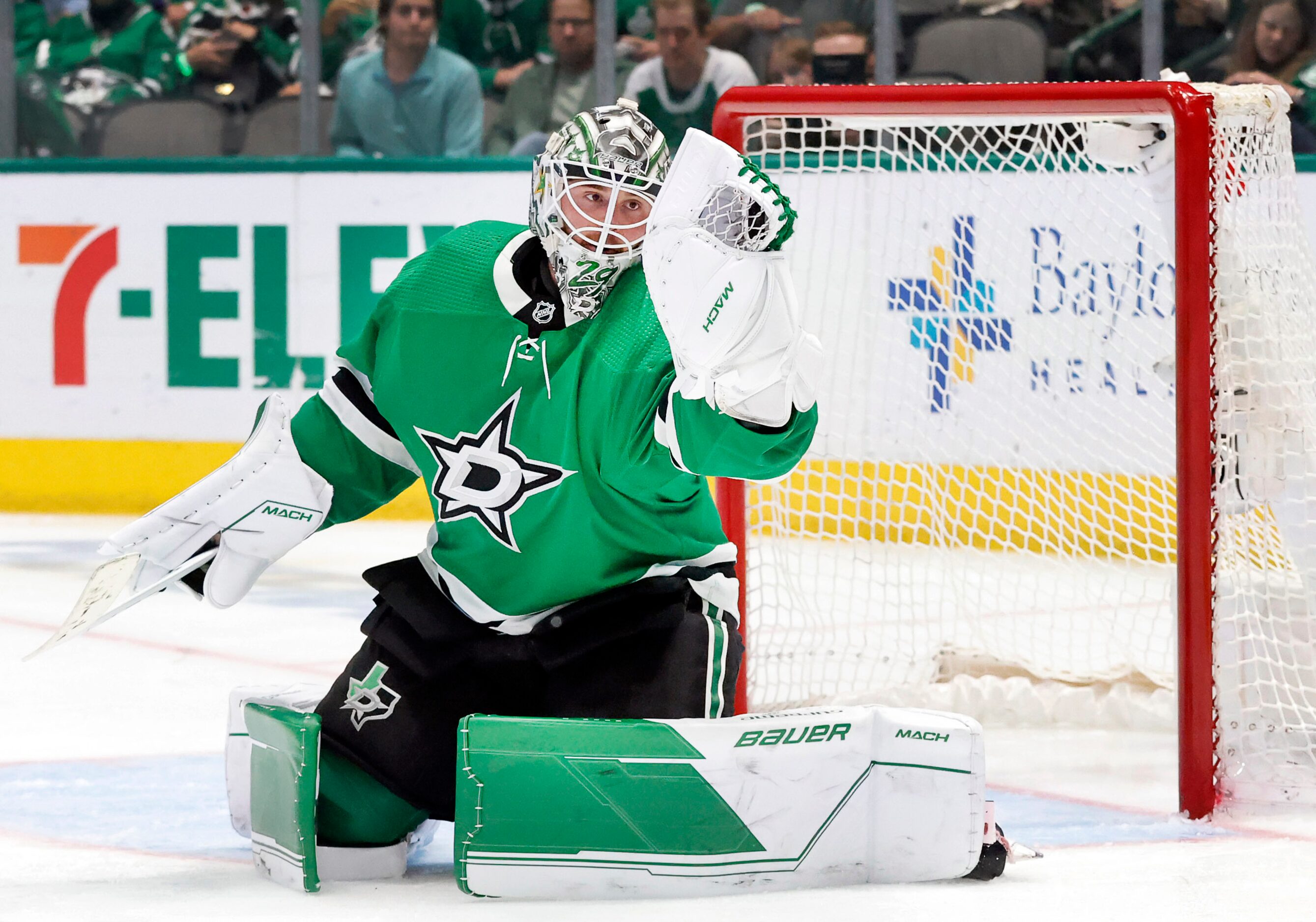
<path fill-rule="evenodd" d="M 800 325 L 780 253 L 794 224 L 757 167 L 704 132 L 686 133 L 644 243 L 683 397 L 766 426 L 813 405 L 822 349 Z"/>

